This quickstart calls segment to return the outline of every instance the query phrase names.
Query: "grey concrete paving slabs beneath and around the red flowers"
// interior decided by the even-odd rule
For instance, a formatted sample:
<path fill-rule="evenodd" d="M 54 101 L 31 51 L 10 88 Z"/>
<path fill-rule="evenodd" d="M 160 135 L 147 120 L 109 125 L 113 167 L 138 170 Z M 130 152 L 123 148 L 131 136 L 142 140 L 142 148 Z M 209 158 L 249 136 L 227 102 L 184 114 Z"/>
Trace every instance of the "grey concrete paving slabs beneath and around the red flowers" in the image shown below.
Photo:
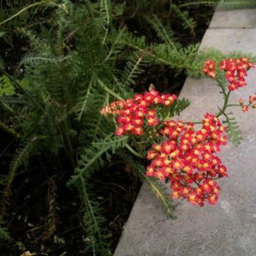
<path fill-rule="evenodd" d="M 216 11 L 201 44 L 207 47 L 256 55 L 256 10 Z M 234 103 L 255 93 L 256 69 L 249 71 L 247 81 L 247 87 L 233 93 Z M 187 78 L 181 97 L 191 102 L 182 120 L 199 120 L 222 105 L 217 85 L 210 79 Z M 229 178 L 219 181 L 218 204 L 200 208 L 183 202 L 175 211 L 178 218 L 169 219 L 143 184 L 115 256 L 256 255 L 256 110 L 233 113 L 244 140 L 237 148 L 229 143 L 221 150 Z"/>

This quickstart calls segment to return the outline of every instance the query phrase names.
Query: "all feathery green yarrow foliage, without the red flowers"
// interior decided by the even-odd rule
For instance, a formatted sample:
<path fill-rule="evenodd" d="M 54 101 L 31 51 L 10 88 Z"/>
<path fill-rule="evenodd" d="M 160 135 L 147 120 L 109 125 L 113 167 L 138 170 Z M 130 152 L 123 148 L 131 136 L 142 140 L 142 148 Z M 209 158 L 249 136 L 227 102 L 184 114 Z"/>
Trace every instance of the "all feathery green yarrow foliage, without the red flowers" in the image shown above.
<path fill-rule="evenodd" d="M 99 111 L 113 100 L 132 96 L 131 86 L 137 84 L 148 66 L 164 65 L 177 73 L 185 71 L 199 77 L 205 59 L 223 59 L 223 53 L 213 50 L 198 53 L 198 44 L 182 47 L 178 43 L 170 17 L 180 20 L 192 34 L 196 29 L 194 20 L 182 10 L 184 6 L 185 3 L 179 7 L 171 3 L 166 15 L 160 17 L 156 10 L 163 11 L 163 6 L 157 0 L 127 1 L 125 6 L 113 5 L 110 0 L 76 4 L 69 0 L 41 1 L 9 16 L 9 21 L 19 22 L 18 17 L 27 11 L 38 14 L 41 7 L 47 8 L 43 12 L 51 10 L 50 19 L 44 20 L 37 32 L 32 26 L 19 29 L 28 38 L 31 51 L 23 56 L 14 75 L 3 70 L 0 59 L 0 128 L 14 136 L 18 148 L 4 178 L 2 212 L 11 197 L 11 184 L 24 167 L 29 170 L 33 163 L 40 163 L 38 169 L 46 169 L 49 176 L 62 177 L 64 172 L 70 177 L 68 185 L 81 198 L 87 252 L 108 255 L 102 210 L 90 190 L 90 182 L 96 170 L 111 160 L 111 155 L 118 154 L 149 184 L 166 212 L 173 216 L 172 201 L 165 188 L 148 178 L 143 164 L 126 153 L 133 142 L 112 135 L 114 124 Z M 152 35 L 157 35 L 155 40 L 130 32 L 124 17 L 130 11 L 142 28 L 150 26 Z M 8 20 L 0 23 L 6 27 Z M 186 99 L 178 100 L 169 116 L 180 114 L 188 105 Z M 237 140 L 230 117 L 227 123 L 228 132 Z M 0 238 L 7 238 L 2 225 L 1 222 Z"/>

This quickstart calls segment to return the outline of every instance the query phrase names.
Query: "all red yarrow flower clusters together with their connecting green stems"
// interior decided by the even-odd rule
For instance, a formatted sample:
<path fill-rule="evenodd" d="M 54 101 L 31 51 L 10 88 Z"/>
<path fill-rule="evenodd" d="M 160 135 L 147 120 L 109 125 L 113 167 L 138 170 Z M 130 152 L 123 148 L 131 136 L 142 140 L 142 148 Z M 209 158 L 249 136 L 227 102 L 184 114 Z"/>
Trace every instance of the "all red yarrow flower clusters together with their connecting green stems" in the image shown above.
<path fill-rule="evenodd" d="M 216 153 L 227 144 L 227 135 L 239 143 L 239 130 L 234 128 L 227 108 L 241 107 L 242 111 L 255 108 L 256 96 L 249 96 L 248 105 L 229 104 L 230 93 L 245 87 L 245 76 L 254 65 L 247 58 L 224 59 L 220 66 L 207 60 L 203 72 L 217 81 L 224 95 L 224 104 L 217 114 L 206 113 L 202 121 L 173 120 L 179 100 L 175 95 L 160 94 L 151 89 L 136 94 L 133 99 L 112 102 L 102 108 L 102 114 L 111 114 L 116 120 L 115 134 L 131 138 L 131 153 L 146 157 L 150 163 L 146 175 L 169 182 L 173 199 L 183 197 L 193 205 L 204 206 L 205 201 L 215 205 L 221 187 L 218 178 L 227 177 L 227 167 Z M 220 78 L 223 78 L 224 82 Z M 223 116 L 221 121 L 219 117 Z M 194 123 L 202 125 L 197 130 Z"/>

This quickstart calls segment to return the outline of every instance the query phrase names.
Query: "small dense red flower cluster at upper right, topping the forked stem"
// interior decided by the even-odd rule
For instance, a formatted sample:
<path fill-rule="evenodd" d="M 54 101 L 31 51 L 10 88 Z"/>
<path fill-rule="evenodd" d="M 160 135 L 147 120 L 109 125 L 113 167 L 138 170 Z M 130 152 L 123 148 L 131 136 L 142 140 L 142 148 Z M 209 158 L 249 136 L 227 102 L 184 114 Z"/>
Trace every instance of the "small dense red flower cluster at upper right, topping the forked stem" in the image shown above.
<path fill-rule="evenodd" d="M 253 64 L 247 58 L 224 59 L 221 61 L 220 69 L 226 72 L 225 77 L 230 82 L 229 90 L 236 90 L 246 85 L 245 76 Z"/>

